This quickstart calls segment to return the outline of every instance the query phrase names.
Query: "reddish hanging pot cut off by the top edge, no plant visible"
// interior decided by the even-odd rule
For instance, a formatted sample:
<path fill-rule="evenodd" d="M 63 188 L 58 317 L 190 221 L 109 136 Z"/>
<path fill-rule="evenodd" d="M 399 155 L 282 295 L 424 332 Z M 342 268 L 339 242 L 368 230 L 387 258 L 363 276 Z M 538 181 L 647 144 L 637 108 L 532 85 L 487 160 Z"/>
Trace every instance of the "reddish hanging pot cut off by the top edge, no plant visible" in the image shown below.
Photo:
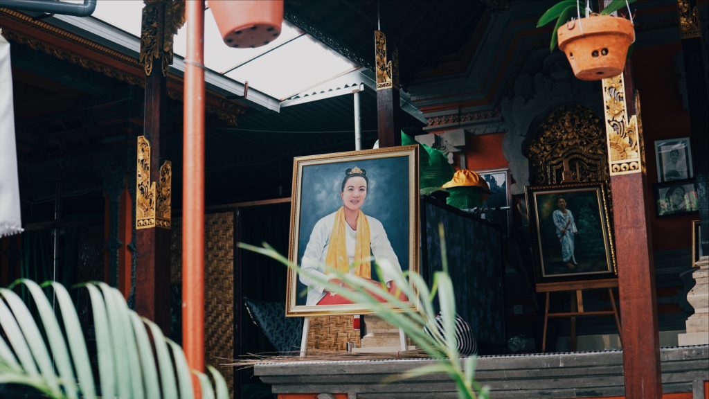
<path fill-rule="evenodd" d="M 283 0 L 211 0 L 208 6 L 230 47 L 267 45 L 281 34 Z"/>

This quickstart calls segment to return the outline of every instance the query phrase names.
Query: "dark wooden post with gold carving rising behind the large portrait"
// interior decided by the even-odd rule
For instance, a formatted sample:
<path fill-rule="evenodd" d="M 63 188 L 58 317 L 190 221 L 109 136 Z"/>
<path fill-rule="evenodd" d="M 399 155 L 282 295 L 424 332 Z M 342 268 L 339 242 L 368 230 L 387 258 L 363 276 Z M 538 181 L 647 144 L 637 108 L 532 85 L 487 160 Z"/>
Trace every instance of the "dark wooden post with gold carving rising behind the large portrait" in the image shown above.
<path fill-rule="evenodd" d="M 391 60 L 386 60 L 387 50 Z M 398 50 L 386 45 L 382 31 L 374 31 L 374 60 L 376 62 L 376 114 L 379 148 L 401 146 L 399 128 Z"/>

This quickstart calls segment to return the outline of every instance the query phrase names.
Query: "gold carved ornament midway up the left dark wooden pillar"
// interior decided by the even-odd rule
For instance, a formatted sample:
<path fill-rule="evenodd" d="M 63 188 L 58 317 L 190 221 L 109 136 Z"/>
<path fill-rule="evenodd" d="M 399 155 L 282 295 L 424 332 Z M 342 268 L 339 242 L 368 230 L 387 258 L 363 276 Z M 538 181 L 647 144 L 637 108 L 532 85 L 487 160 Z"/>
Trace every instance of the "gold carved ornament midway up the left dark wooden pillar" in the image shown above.
<path fill-rule="evenodd" d="M 172 210 L 172 163 L 160 167 L 160 187 L 150 182 L 150 141 L 138 136 L 138 163 L 135 169 L 135 229 L 158 226 L 170 228 Z"/>

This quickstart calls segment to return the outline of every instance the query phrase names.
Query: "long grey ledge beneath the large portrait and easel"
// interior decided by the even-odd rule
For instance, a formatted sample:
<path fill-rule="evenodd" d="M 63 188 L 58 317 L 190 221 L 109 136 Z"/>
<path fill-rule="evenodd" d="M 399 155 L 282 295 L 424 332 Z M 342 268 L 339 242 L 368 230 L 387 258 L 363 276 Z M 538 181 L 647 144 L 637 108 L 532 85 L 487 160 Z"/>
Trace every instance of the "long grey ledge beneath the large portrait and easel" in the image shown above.
<path fill-rule="evenodd" d="M 664 393 L 690 393 L 709 381 L 709 346 L 660 350 Z M 293 361 L 259 364 L 255 375 L 274 393 L 348 393 L 352 398 L 457 398 L 442 374 L 384 384 L 381 381 L 430 359 Z M 481 356 L 475 372 L 492 397 L 588 398 L 624 395 L 623 351 Z M 703 394 L 703 393 L 702 393 Z M 703 398 L 703 396 L 700 396 Z"/>

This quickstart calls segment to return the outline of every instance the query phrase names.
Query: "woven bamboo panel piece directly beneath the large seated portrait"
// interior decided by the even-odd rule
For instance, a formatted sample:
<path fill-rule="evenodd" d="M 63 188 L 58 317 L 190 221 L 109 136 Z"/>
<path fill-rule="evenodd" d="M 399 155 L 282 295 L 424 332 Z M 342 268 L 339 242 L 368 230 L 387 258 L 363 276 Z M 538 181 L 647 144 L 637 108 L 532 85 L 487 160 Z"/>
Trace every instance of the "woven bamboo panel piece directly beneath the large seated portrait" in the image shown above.
<path fill-rule="evenodd" d="M 346 351 L 347 342 L 359 347 L 359 330 L 352 328 L 352 316 L 311 317 L 308 350 Z"/>

